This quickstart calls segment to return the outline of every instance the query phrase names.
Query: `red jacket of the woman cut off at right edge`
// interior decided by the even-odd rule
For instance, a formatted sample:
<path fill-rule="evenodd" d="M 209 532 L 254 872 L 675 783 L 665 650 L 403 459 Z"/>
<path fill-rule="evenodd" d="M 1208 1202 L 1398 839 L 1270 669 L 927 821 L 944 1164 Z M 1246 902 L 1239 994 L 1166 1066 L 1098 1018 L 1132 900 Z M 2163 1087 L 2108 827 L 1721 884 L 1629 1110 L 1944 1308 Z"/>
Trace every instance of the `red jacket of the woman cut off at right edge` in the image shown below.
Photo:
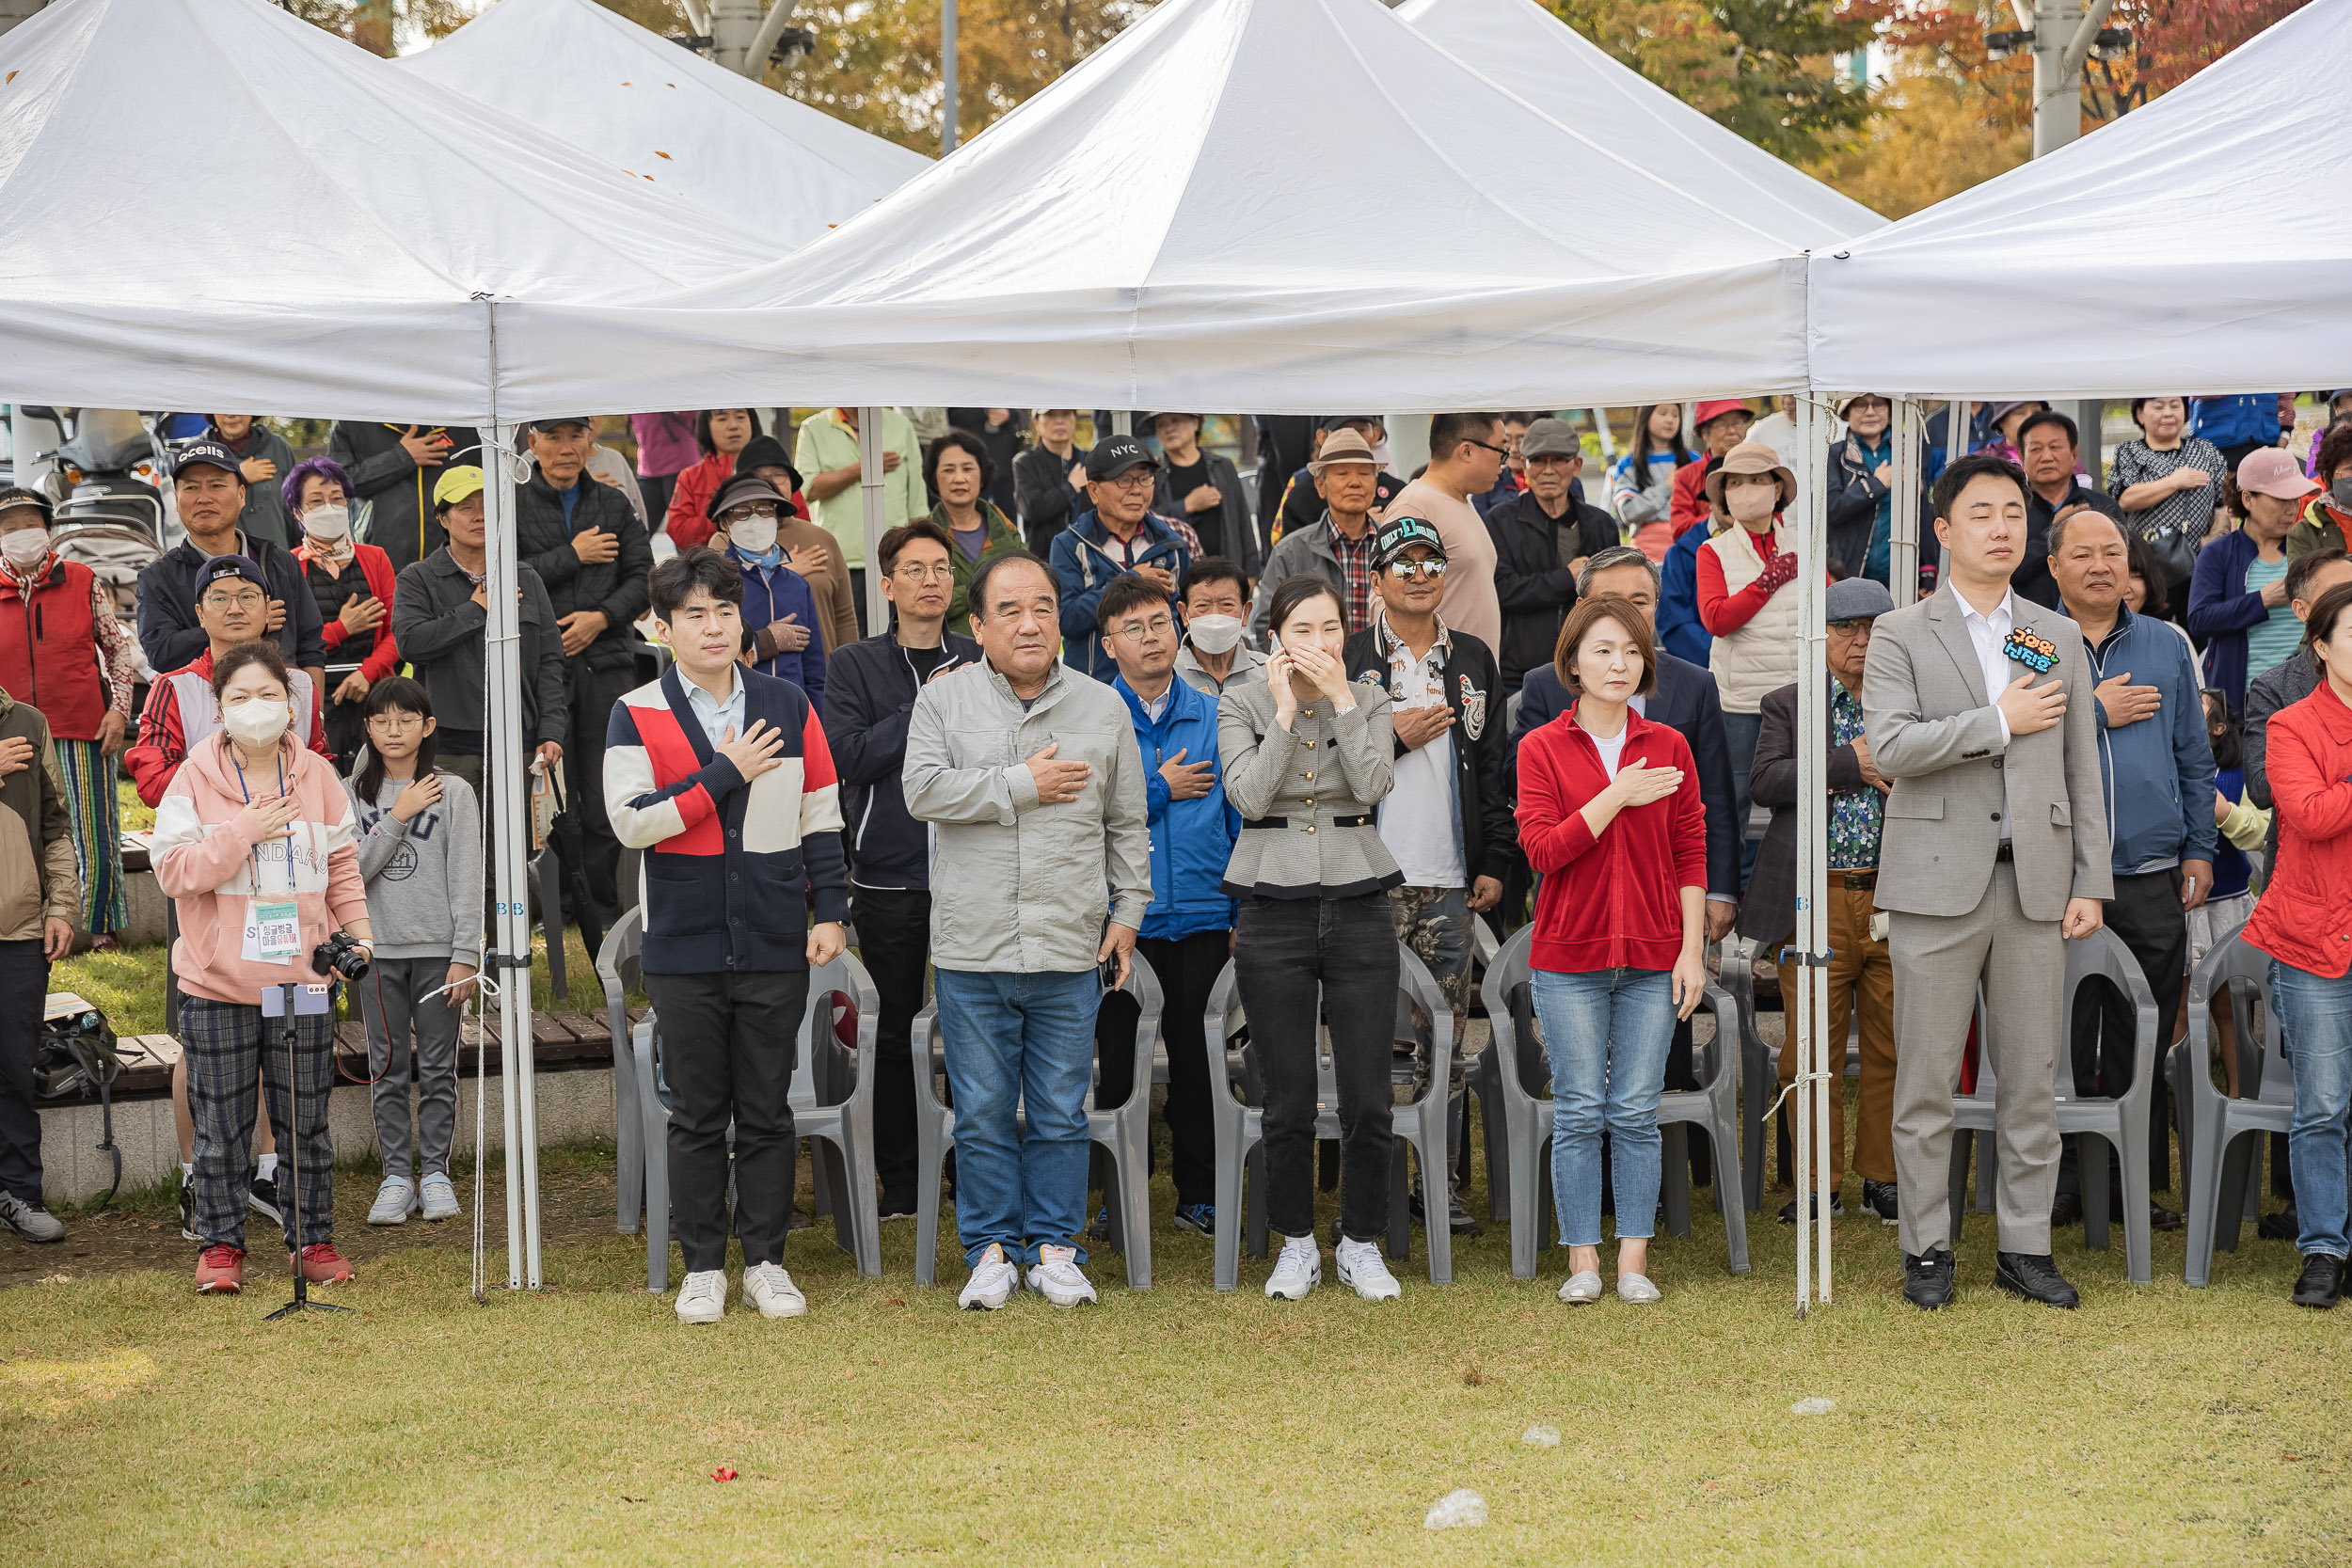
<path fill-rule="evenodd" d="M 2246 940 L 2340 980 L 2352 969 L 2352 708 L 2319 682 L 2270 715 L 2263 771 L 2279 811 L 2279 863 Z"/>

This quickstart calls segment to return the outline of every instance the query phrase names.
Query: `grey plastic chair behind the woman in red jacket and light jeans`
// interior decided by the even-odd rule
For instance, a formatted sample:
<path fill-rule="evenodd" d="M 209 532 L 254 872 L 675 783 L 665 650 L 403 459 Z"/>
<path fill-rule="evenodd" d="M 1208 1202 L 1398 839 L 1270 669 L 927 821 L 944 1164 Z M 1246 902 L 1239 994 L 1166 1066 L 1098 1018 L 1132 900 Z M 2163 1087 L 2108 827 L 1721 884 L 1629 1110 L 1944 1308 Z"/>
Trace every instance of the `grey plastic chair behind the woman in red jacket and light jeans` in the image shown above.
<path fill-rule="evenodd" d="M 1503 943 L 1503 952 L 1486 969 L 1486 1020 L 1494 1027 L 1496 1053 L 1503 1063 L 1503 1105 L 1510 1121 L 1510 1272 L 1517 1279 L 1536 1276 L 1536 1258 L 1555 1234 L 1550 1145 L 1552 1145 L 1552 1063 L 1536 1037 L 1534 973 L 1526 950 L 1536 929 L 1524 926 Z M 1658 1095 L 1658 1128 L 1665 1135 L 1665 1173 L 1661 1204 L 1665 1208 L 1665 1232 L 1670 1237 L 1691 1234 L 1691 1152 L 1689 1126 L 1696 1121 L 1715 1145 L 1715 1208 L 1724 1215 L 1724 1244 L 1733 1274 L 1748 1272 L 1748 1211 L 1740 1192 L 1740 1133 L 1738 1133 L 1738 1081 L 1733 1041 L 1738 1032 L 1738 1006 L 1722 985 L 1710 985 L 1705 997 L 1715 1018 L 1715 1037 L 1693 1041 L 1693 1056 L 1705 1051 L 1698 1072 L 1698 1088 L 1668 1091 Z M 1529 1081 L 1543 1086 L 1538 1095 Z"/>

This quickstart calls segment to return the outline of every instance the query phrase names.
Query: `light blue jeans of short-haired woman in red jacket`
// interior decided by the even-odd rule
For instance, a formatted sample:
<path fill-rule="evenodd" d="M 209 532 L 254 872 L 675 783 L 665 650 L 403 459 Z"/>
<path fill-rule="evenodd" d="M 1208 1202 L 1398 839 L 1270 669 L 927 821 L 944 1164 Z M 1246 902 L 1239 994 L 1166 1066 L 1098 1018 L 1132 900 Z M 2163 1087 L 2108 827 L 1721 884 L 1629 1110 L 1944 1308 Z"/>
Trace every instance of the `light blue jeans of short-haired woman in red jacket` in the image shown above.
<path fill-rule="evenodd" d="M 1534 973 L 1543 1053 L 1552 1058 L 1552 1206 L 1562 1246 L 1602 1244 L 1602 1131 L 1618 1241 L 1658 1225 L 1665 1140 L 1658 1093 L 1675 1044 L 1675 976 L 1663 969 Z"/>

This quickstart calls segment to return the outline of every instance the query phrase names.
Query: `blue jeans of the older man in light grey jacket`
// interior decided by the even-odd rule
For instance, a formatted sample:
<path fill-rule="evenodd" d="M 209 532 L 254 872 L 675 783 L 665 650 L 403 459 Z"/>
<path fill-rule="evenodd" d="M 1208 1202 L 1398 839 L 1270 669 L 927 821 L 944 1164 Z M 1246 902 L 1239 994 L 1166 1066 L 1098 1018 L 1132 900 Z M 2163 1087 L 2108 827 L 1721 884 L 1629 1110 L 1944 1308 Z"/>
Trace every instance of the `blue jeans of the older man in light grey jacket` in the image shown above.
<path fill-rule="evenodd" d="M 1101 985 L 1077 973 L 936 969 L 938 1037 L 955 1088 L 955 1229 L 964 1262 L 1002 1246 L 1087 1260 L 1087 1088 Z M 1018 1114 L 1028 1112 L 1028 1133 Z"/>

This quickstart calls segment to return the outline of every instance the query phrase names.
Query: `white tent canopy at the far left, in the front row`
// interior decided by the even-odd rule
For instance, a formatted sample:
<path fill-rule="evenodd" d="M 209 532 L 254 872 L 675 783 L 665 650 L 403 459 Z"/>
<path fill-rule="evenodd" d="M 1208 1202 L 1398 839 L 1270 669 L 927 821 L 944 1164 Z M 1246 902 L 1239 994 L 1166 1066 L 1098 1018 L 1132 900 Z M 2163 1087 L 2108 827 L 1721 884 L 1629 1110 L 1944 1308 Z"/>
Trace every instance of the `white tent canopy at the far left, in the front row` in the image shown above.
<path fill-rule="evenodd" d="M 64 0 L 0 38 L 12 400 L 487 423 L 480 296 L 769 256 L 263 0 Z"/>

